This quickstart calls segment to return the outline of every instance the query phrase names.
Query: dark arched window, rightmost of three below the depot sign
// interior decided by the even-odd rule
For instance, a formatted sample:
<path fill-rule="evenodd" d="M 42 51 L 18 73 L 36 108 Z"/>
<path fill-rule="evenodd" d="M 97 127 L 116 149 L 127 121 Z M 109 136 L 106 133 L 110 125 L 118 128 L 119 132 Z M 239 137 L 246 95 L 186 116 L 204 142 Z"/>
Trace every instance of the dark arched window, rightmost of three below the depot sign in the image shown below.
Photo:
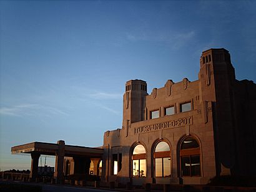
<path fill-rule="evenodd" d="M 180 175 L 200 176 L 200 146 L 193 137 L 186 137 L 180 144 Z"/>

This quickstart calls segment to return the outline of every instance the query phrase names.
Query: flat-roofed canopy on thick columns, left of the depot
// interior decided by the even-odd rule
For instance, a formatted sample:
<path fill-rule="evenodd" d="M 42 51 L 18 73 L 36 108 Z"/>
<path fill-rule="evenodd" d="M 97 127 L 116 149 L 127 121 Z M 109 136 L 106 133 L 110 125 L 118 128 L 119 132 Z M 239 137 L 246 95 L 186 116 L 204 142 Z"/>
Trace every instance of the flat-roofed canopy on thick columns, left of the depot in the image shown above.
<path fill-rule="evenodd" d="M 64 182 L 64 157 L 74 158 L 74 173 L 89 175 L 89 167 L 92 158 L 102 159 L 103 149 L 86 146 L 65 145 L 63 140 L 56 143 L 33 142 L 24 145 L 13 146 L 12 154 L 31 154 L 31 181 L 36 180 L 38 172 L 38 161 L 40 155 L 56 156 L 54 178 L 57 183 Z"/>

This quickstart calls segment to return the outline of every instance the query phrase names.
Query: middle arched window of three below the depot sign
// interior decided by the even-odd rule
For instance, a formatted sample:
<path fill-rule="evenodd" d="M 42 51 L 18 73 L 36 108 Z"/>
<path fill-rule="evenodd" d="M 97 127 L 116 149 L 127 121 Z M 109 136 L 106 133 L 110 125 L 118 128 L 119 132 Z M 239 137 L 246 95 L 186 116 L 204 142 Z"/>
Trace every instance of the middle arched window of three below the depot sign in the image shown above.
<path fill-rule="evenodd" d="M 159 142 L 155 146 L 155 176 L 170 176 L 170 146 L 166 142 Z"/>

